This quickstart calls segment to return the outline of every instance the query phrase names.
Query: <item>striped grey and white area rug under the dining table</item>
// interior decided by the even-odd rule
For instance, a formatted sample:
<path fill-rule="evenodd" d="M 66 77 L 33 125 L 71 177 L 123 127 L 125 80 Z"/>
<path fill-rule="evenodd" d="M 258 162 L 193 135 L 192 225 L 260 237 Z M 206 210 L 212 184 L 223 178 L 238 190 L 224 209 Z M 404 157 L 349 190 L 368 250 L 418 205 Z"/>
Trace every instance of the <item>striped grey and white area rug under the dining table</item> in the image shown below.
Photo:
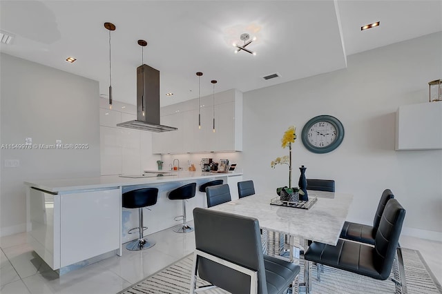
<path fill-rule="evenodd" d="M 151 277 L 126 288 L 119 294 L 189 293 L 192 259 L 193 255 L 186 256 Z M 403 261 L 408 293 L 442 293 L 441 284 L 436 280 L 419 251 L 403 248 Z M 302 280 L 302 266 L 300 273 L 299 278 Z M 315 266 L 313 266 L 311 273 L 314 275 L 311 279 L 311 293 L 395 293 L 394 283 L 389 280 L 378 281 L 329 266 L 324 266 L 320 282 L 316 280 Z M 198 286 L 204 284 L 206 284 L 204 281 L 198 279 Z M 213 289 L 202 293 L 227 292 Z"/>

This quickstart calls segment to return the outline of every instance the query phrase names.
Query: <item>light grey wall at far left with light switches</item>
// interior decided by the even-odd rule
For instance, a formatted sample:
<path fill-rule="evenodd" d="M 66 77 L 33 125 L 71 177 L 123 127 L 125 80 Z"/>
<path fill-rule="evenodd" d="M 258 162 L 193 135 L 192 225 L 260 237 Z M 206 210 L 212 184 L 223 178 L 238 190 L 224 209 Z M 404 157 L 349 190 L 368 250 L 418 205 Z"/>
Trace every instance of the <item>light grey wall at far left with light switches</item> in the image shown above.
<path fill-rule="evenodd" d="M 64 61 L 60 61 L 64 62 Z M 26 231 L 23 181 L 99 175 L 98 82 L 1 54 L 1 144 L 88 144 L 88 149 L 1 149 L 0 235 Z M 19 167 L 6 168 L 7 159 Z"/>

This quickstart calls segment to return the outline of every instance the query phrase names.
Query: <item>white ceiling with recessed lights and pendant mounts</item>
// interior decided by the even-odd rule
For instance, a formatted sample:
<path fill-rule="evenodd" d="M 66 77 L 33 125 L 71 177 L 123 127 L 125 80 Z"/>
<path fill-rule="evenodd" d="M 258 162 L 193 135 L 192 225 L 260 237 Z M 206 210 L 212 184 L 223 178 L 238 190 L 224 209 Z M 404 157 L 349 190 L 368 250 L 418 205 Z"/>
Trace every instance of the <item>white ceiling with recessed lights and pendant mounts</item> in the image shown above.
<path fill-rule="evenodd" d="M 160 70 L 161 105 L 237 88 L 242 92 L 345 68 L 347 56 L 442 30 L 442 1 L 0 1 L 1 52 L 99 81 L 113 99 L 136 103 L 138 39 Z M 381 26 L 361 31 L 367 23 Z M 234 54 L 244 32 L 257 37 Z M 75 63 L 65 61 L 75 57 Z M 275 72 L 276 79 L 262 77 Z M 166 96 L 173 92 L 172 96 Z M 107 97 L 107 96 L 104 96 Z"/>

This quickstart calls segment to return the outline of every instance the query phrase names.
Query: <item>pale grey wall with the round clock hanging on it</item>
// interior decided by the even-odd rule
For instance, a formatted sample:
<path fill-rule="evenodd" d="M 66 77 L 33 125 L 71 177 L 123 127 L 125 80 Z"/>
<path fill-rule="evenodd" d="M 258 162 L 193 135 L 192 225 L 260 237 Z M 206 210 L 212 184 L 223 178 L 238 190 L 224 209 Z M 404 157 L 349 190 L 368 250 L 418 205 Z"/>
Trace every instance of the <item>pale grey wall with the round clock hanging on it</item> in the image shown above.
<path fill-rule="evenodd" d="M 280 139 L 295 125 L 294 166 L 354 194 L 349 220 L 371 224 L 382 191 L 390 188 L 407 210 L 404 233 L 442 239 L 442 150 L 394 150 L 395 112 L 428 101 L 428 81 L 442 78 L 441 52 L 439 32 L 351 55 L 344 70 L 244 92 L 244 175 L 258 191 L 287 184 L 287 166 L 273 170 L 270 162 L 288 155 Z M 325 114 L 342 121 L 343 144 L 332 153 L 310 153 L 302 127 Z M 296 168 L 296 183 L 299 175 Z"/>

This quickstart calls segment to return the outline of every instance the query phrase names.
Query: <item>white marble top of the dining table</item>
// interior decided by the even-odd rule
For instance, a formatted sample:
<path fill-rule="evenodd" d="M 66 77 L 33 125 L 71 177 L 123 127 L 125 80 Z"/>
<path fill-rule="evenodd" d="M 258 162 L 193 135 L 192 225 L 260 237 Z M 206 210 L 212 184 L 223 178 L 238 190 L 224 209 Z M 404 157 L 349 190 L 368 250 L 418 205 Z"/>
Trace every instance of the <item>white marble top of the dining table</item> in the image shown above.
<path fill-rule="evenodd" d="M 307 192 L 309 197 L 318 197 L 318 201 L 308 210 L 270 205 L 270 200 L 278 196 L 276 193 L 251 195 L 209 209 L 255 217 L 262 229 L 336 245 L 353 195 L 313 190 Z"/>

